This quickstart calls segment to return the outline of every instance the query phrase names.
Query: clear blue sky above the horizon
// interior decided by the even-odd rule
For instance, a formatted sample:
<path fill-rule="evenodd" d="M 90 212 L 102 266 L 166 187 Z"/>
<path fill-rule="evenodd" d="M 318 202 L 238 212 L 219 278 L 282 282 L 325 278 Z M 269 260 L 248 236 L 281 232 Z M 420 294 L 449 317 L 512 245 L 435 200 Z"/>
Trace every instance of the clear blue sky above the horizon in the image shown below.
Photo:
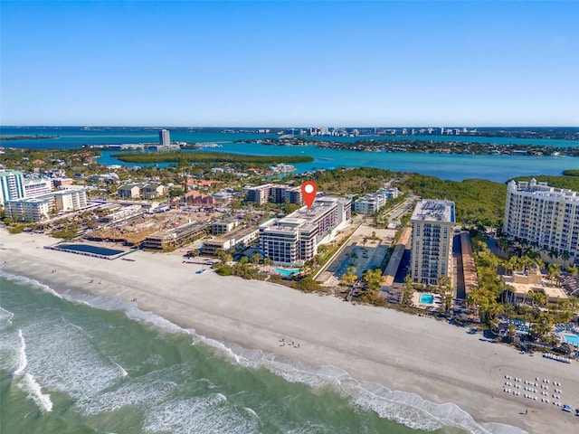
<path fill-rule="evenodd" d="M 579 2 L 1 2 L 2 125 L 579 126 Z"/>

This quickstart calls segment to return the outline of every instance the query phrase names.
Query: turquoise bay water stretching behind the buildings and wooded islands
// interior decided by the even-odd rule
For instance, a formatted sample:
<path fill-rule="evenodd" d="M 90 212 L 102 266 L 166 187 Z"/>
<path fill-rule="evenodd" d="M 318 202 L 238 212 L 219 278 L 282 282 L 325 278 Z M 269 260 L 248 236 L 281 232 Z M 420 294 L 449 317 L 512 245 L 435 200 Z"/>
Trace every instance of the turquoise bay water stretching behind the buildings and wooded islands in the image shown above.
<path fill-rule="evenodd" d="M 58 139 L 5 141 L 2 146 L 26 148 L 78 147 L 82 145 L 122 144 L 157 142 L 155 130 L 82 130 L 79 127 L 45 127 L 45 128 L 6 128 L 0 133 L 5 136 L 14 135 L 58 135 Z M 236 140 L 261 139 L 277 137 L 266 134 L 235 134 L 235 133 L 189 133 L 172 132 L 171 139 L 189 142 L 218 142 L 223 147 L 210 149 L 215 152 L 234 154 L 252 154 L 261 156 L 312 156 L 311 163 L 296 165 L 299 173 L 314 169 L 332 169 L 346 167 L 377 167 L 404 172 L 418 172 L 423 175 L 438 176 L 441 179 L 461 181 L 470 178 L 489 179 L 490 181 L 506 182 L 516 176 L 526 175 L 561 175 L 565 169 L 579 169 L 579 157 L 569 156 L 469 156 L 441 154 L 411 154 L 386 152 L 356 152 L 336 149 L 322 149 L 316 146 L 266 146 L 259 143 L 234 143 Z M 373 137 L 365 137 L 373 138 Z M 374 137 L 374 138 L 412 138 L 412 137 Z M 576 147 L 578 141 L 560 139 L 517 139 L 489 137 L 414 137 L 436 141 L 464 140 L 469 142 L 492 142 L 497 144 L 525 144 L 536 146 Z M 353 137 L 337 137 L 341 141 L 354 141 Z M 204 149 L 207 150 L 207 149 Z M 195 151 L 194 151 L 195 152 Z M 114 152 L 103 152 L 99 159 L 103 165 L 128 165 L 111 155 Z"/>

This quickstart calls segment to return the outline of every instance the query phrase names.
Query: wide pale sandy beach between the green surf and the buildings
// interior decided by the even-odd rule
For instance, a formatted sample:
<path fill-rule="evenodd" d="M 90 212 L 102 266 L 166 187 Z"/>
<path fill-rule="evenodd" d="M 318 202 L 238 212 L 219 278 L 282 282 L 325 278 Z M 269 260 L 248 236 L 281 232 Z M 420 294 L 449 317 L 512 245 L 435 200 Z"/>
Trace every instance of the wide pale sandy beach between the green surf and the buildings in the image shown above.
<path fill-rule="evenodd" d="M 1 261 L 6 261 L 1 267 L 72 297 L 137 298 L 139 309 L 214 340 L 336 366 L 356 380 L 413 392 L 436 404 L 454 402 L 490 432 L 501 430 L 493 423 L 529 433 L 579 432 L 579 418 L 541 402 L 540 393 L 544 379 L 560 382 L 562 403 L 579 406 L 575 362 L 518 354 L 481 334 L 469 334 L 468 328 L 429 317 L 355 306 L 267 282 L 221 278 L 213 270 L 196 274 L 201 266 L 184 263 L 176 254 L 138 251 L 128 256 L 135 260 L 128 261 L 43 249 L 55 242 L 43 235 L 1 231 Z M 524 398 L 524 381 L 537 377 L 538 400 L 531 401 Z M 506 381 L 514 384 L 515 378 L 522 379 L 520 389 L 504 386 Z M 520 396 L 503 392 L 504 387 L 520 391 Z M 449 408 L 432 406 L 432 412 L 444 414 Z"/>

